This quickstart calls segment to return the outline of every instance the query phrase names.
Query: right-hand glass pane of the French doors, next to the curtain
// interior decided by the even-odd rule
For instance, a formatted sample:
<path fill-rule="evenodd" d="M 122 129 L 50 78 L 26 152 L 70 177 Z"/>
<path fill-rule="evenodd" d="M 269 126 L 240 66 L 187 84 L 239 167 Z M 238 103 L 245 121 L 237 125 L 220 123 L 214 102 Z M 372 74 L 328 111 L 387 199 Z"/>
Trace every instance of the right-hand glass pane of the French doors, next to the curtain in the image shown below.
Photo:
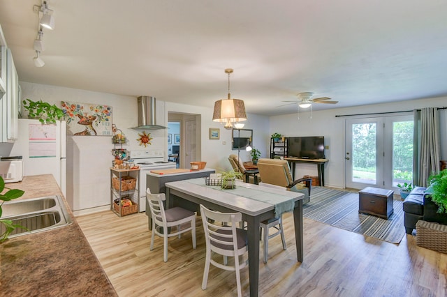
<path fill-rule="evenodd" d="M 413 181 L 413 121 L 393 122 L 393 186 Z"/>

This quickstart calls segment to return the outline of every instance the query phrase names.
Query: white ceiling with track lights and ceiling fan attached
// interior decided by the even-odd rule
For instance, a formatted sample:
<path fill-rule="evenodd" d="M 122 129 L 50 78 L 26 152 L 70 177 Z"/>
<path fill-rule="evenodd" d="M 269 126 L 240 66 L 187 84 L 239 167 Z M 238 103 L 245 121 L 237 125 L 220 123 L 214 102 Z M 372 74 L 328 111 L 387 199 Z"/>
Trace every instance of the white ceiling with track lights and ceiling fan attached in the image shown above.
<path fill-rule="evenodd" d="M 348 107 L 447 96 L 445 0 L 48 0 L 43 68 L 38 0 L 0 0 L 21 81 L 247 112 L 290 114 L 295 94 Z"/>

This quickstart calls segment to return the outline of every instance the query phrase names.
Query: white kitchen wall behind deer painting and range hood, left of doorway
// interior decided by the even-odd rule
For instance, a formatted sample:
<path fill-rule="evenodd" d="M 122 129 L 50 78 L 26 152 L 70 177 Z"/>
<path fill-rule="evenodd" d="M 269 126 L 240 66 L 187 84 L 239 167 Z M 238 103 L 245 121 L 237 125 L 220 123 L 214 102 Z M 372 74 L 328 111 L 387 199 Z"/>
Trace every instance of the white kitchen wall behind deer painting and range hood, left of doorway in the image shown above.
<path fill-rule="evenodd" d="M 60 86 L 20 82 L 22 100 L 44 100 L 61 106 L 61 101 L 96 103 L 112 107 L 112 123 L 124 132 L 128 141 L 123 148 L 129 151 L 144 149 L 139 145 L 137 125 L 137 98 L 110 93 L 98 93 Z M 164 102 L 157 102 L 157 120 L 165 122 Z M 154 137 L 149 148 L 167 150 L 166 130 L 146 130 Z M 73 211 L 97 207 L 110 208 L 110 167 L 112 165 L 112 137 L 68 136 L 67 194 Z M 117 148 L 121 148 L 117 145 Z"/>

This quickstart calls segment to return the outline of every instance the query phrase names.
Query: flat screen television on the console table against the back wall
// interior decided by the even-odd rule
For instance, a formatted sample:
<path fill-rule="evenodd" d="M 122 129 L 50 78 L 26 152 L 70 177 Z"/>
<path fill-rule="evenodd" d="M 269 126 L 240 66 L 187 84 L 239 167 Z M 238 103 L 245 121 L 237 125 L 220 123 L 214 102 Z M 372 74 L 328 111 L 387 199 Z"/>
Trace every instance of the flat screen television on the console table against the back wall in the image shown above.
<path fill-rule="evenodd" d="M 325 158 L 324 136 L 288 137 L 287 155 L 301 159 Z"/>

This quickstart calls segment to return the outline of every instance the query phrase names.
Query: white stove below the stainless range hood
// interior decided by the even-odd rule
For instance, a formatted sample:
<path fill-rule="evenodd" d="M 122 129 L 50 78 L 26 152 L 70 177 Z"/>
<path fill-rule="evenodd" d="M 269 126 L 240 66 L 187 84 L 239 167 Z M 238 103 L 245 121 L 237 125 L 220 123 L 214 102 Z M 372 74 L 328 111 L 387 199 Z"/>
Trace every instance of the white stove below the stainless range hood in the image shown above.
<path fill-rule="evenodd" d="M 161 150 L 134 150 L 130 158 L 135 165 L 140 166 L 138 187 L 140 190 L 140 211 L 146 210 L 146 174 L 155 169 L 171 169 L 177 167 L 177 163 L 168 162 L 165 152 Z"/>

